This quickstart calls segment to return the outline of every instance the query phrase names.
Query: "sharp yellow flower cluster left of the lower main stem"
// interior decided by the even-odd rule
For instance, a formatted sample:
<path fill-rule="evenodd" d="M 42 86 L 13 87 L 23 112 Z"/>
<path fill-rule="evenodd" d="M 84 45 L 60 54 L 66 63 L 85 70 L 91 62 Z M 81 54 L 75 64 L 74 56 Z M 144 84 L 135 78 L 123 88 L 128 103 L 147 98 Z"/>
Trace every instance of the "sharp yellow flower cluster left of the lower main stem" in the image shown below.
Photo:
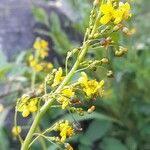
<path fill-rule="evenodd" d="M 37 111 L 37 102 L 37 98 L 30 98 L 28 95 L 23 95 L 18 99 L 17 111 L 21 112 L 23 117 L 28 117 L 30 113 Z"/>

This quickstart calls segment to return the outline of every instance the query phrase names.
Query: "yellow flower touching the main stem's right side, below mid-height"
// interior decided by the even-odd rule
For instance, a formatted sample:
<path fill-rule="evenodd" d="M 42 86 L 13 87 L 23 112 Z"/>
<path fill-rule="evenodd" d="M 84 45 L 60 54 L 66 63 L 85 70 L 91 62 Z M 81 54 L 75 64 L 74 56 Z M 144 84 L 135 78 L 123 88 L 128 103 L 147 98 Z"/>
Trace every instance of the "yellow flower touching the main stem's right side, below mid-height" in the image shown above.
<path fill-rule="evenodd" d="M 73 92 L 72 88 L 66 88 L 62 90 L 61 94 L 58 102 L 62 104 L 62 109 L 65 109 L 70 103 L 70 98 L 75 95 L 75 92 Z"/>

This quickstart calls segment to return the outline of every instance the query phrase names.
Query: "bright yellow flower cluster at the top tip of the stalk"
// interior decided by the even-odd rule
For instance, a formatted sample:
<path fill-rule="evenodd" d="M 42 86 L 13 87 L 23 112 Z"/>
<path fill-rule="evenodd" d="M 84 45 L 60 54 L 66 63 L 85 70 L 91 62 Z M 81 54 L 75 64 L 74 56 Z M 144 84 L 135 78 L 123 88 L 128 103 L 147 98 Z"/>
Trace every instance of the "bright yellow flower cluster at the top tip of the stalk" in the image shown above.
<path fill-rule="evenodd" d="M 100 11 L 103 14 L 100 22 L 104 25 L 110 21 L 112 21 L 114 24 L 118 24 L 131 16 L 130 5 L 128 2 L 119 2 L 119 6 L 117 7 L 115 2 L 108 0 L 107 3 L 104 3 L 100 6 Z"/>

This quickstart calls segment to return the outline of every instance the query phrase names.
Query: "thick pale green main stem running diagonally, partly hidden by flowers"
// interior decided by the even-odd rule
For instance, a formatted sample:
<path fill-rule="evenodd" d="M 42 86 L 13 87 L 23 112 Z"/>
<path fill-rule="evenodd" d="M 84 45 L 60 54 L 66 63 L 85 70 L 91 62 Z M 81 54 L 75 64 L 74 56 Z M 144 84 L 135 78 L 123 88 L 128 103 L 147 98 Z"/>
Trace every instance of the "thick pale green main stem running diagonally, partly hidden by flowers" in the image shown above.
<path fill-rule="evenodd" d="M 93 27 L 93 30 L 91 32 L 91 36 L 90 37 L 93 37 L 93 35 L 95 34 L 96 30 L 97 30 L 97 27 L 98 27 L 98 24 L 99 24 L 99 17 L 100 17 L 100 14 L 97 16 L 97 19 L 96 19 L 96 22 L 94 24 L 94 27 Z M 88 51 L 88 47 L 89 47 L 89 43 L 88 43 L 88 40 L 86 42 L 83 43 L 83 46 L 82 46 L 82 50 L 81 50 L 81 53 L 80 55 L 78 56 L 75 64 L 73 65 L 72 69 L 70 70 L 70 72 L 67 74 L 67 76 L 65 77 L 65 79 L 63 80 L 63 82 L 59 85 L 59 87 L 56 89 L 56 91 L 54 92 L 55 94 L 56 93 L 59 93 L 59 91 L 69 82 L 69 80 L 71 79 L 71 77 L 74 75 L 75 71 L 78 69 L 80 63 L 82 62 L 83 58 L 85 57 L 87 51 Z M 33 133 L 35 132 L 42 116 L 45 114 L 45 112 L 50 108 L 50 106 L 53 104 L 55 99 L 50 99 L 48 100 L 40 109 L 40 111 L 37 113 L 31 127 L 30 127 L 30 130 L 22 144 L 22 147 L 21 147 L 21 150 L 27 150 L 28 147 L 29 147 L 29 144 L 30 144 L 30 141 L 32 139 L 32 136 L 33 136 Z"/>

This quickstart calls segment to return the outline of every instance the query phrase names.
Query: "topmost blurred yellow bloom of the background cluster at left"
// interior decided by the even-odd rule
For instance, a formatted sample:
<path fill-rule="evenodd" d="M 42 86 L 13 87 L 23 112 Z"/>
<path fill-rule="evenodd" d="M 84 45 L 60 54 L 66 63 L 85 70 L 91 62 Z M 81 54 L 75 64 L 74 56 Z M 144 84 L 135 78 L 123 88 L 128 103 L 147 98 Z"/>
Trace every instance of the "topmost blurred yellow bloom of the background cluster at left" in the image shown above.
<path fill-rule="evenodd" d="M 48 42 L 37 38 L 33 44 L 33 48 L 36 50 L 48 49 Z"/>

